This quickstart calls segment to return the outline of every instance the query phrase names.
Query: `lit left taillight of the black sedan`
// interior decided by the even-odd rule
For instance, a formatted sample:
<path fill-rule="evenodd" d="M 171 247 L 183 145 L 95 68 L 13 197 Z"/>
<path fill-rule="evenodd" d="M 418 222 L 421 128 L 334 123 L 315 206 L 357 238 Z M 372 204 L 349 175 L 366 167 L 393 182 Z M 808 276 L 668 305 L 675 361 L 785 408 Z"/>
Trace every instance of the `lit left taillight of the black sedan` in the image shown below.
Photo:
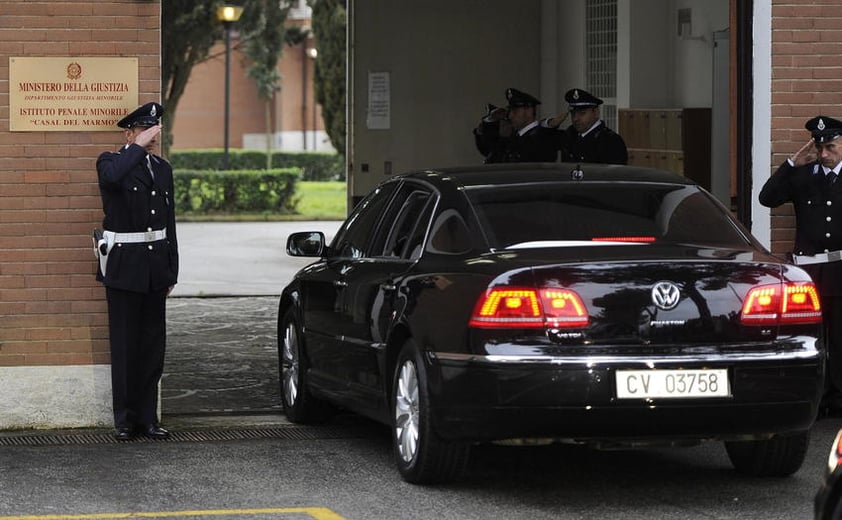
<path fill-rule="evenodd" d="M 479 328 L 571 328 L 588 325 L 575 291 L 557 287 L 495 287 L 486 291 L 468 323 Z"/>

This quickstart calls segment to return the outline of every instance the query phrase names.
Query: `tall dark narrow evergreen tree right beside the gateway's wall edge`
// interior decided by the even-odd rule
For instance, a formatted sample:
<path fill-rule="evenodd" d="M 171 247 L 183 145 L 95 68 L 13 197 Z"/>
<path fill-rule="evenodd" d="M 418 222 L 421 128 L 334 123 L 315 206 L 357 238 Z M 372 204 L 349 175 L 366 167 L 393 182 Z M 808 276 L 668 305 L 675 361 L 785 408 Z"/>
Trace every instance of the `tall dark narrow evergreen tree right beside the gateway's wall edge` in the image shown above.
<path fill-rule="evenodd" d="M 314 81 L 316 101 L 333 147 L 345 155 L 345 0 L 308 0 L 319 44 Z"/>

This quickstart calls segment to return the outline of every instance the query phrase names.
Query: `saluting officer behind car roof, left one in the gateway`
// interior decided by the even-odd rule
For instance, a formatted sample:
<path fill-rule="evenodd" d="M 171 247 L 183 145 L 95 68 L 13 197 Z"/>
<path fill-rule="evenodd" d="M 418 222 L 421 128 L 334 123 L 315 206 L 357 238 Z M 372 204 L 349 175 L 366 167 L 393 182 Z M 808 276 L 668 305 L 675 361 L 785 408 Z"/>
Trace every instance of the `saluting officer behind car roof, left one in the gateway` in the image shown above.
<path fill-rule="evenodd" d="M 555 131 L 541 126 L 537 120 L 537 98 L 515 88 L 506 89 L 505 110 L 489 110 L 474 130 L 477 149 L 485 162 L 555 162 L 558 142 Z M 511 126 L 511 135 L 501 134 L 499 121 L 503 115 Z"/>

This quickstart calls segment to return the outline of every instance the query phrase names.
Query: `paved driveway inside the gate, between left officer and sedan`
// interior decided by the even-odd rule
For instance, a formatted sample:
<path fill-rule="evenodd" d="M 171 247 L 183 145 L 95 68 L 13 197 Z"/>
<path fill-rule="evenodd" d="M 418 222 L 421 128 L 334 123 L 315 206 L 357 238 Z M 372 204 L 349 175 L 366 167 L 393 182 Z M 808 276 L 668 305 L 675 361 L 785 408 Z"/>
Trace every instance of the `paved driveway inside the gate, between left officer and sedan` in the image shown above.
<path fill-rule="evenodd" d="M 167 302 L 167 357 L 161 381 L 165 425 L 186 417 L 244 415 L 283 421 L 278 386 L 278 296 L 311 259 L 286 254 L 294 231 L 341 222 L 178 224 L 179 283 Z M 176 418 L 181 419 L 175 422 Z"/>

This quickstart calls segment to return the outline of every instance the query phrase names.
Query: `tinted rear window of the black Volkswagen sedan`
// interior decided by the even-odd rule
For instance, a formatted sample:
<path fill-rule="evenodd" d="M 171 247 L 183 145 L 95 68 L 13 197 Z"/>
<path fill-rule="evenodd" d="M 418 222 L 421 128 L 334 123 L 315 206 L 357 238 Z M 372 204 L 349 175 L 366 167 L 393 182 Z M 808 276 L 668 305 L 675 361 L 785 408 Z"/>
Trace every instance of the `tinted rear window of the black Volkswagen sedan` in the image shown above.
<path fill-rule="evenodd" d="M 728 212 L 696 186 L 583 182 L 466 191 L 495 249 L 551 242 L 748 243 Z"/>

